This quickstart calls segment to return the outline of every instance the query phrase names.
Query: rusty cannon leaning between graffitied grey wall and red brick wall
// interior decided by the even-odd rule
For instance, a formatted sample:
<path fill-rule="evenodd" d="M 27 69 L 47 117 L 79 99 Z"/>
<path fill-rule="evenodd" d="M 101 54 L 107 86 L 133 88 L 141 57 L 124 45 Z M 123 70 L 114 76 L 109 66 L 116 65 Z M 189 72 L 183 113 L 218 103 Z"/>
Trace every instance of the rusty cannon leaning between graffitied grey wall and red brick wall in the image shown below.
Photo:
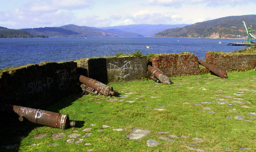
<path fill-rule="evenodd" d="M 153 74 L 153 76 L 151 76 L 151 78 L 155 81 L 155 82 L 162 82 L 164 84 L 172 84 L 171 79 L 169 77 L 167 77 L 164 72 L 162 72 L 160 69 L 158 68 L 153 68 L 152 66 L 148 65 L 148 71 L 150 73 Z"/>

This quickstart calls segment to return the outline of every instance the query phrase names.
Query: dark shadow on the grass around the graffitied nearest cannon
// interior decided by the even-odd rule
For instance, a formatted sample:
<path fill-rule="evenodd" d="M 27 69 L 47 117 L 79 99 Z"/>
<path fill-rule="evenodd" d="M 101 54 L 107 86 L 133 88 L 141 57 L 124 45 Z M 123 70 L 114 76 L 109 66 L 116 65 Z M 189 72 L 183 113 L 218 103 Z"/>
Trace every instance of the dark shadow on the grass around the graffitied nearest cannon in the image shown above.
<path fill-rule="evenodd" d="M 76 101 L 82 94 L 75 94 L 64 97 L 63 99 L 52 104 L 50 107 L 42 107 L 40 109 L 50 112 L 59 113 L 59 110 L 72 105 L 72 102 Z M 31 107 L 33 108 L 33 107 Z M 16 152 L 19 151 L 19 146 L 23 138 L 27 137 L 29 133 L 44 125 L 38 125 L 28 120 L 20 122 L 19 116 L 16 113 L 7 113 L 0 111 L 0 151 L 1 152 Z M 76 121 L 76 120 L 74 120 Z M 76 128 L 81 128 L 84 125 L 84 121 L 76 121 Z"/>

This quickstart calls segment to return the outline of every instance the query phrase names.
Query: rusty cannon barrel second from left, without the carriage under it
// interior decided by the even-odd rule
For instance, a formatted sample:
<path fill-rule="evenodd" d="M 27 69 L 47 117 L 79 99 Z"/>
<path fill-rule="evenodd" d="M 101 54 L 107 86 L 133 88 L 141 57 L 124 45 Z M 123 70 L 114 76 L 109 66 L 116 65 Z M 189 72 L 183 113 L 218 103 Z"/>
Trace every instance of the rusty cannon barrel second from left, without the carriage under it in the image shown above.
<path fill-rule="evenodd" d="M 93 88 L 105 96 L 110 96 L 115 94 L 115 91 L 113 91 L 113 88 L 111 86 L 107 86 L 106 84 L 103 84 L 97 80 L 93 80 L 89 77 L 80 75 L 79 81 L 84 83 L 87 87 Z"/>

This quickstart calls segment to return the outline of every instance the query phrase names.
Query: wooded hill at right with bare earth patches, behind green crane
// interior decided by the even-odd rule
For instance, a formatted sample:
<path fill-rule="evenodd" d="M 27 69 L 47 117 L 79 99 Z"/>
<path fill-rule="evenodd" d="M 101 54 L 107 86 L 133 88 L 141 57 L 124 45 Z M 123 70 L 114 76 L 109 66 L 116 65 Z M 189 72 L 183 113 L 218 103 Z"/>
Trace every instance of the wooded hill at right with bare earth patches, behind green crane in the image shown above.
<path fill-rule="evenodd" d="M 167 29 L 155 34 L 154 37 L 244 38 L 247 35 L 243 20 L 247 27 L 252 25 L 252 28 L 256 28 L 256 15 L 230 16 Z"/>

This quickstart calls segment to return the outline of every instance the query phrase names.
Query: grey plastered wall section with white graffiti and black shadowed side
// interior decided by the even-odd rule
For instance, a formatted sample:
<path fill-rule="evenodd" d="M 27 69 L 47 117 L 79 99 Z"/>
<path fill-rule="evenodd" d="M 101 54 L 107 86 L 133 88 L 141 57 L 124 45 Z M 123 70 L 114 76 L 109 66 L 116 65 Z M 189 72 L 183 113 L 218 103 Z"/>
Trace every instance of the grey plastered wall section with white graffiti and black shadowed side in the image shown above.
<path fill-rule="evenodd" d="M 143 80 L 147 72 L 146 57 L 87 58 L 76 62 L 80 74 L 104 84 Z"/>

